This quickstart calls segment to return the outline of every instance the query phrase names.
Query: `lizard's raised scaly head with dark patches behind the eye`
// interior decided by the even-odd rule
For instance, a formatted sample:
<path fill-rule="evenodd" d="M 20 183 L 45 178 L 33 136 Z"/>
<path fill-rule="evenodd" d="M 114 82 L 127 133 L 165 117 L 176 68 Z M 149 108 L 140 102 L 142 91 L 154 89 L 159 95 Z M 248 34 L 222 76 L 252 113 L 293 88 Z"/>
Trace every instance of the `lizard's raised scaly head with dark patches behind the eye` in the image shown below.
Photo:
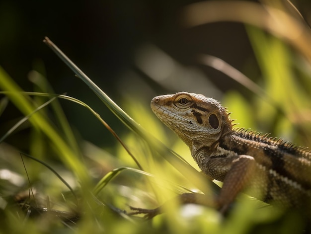
<path fill-rule="evenodd" d="M 156 116 L 189 147 L 215 145 L 232 130 L 231 120 L 221 104 L 202 94 L 178 92 L 156 96 L 151 101 Z"/>

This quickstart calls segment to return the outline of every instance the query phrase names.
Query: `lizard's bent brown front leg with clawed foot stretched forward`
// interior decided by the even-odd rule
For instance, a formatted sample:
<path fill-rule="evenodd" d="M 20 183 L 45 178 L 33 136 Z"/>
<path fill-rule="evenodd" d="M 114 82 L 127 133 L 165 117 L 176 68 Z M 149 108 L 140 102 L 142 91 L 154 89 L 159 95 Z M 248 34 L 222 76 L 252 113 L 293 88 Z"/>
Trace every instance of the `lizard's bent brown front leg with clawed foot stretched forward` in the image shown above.
<path fill-rule="evenodd" d="M 184 193 L 173 199 L 178 199 L 181 204 L 192 203 L 215 208 L 224 214 L 236 195 L 249 184 L 255 166 L 256 163 L 253 157 L 247 155 L 238 156 L 233 160 L 232 166 L 225 176 L 224 184 L 218 197 L 212 198 L 204 194 Z M 168 202 L 170 200 L 166 201 L 166 203 Z M 130 207 L 133 212 L 129 213 L 129 215 L 145 214 L 144 218 L 151 219 L 161 214 L 164 206 L 165 203 L 156 209 Z"/>

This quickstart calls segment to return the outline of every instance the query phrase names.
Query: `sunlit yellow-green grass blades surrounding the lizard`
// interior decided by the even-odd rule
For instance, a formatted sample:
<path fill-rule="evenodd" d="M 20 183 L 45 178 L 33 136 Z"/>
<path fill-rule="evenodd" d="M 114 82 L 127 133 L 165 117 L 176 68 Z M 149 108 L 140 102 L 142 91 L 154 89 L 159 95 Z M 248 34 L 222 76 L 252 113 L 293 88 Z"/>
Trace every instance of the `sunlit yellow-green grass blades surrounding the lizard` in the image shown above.
<path fill-rule="evenodd" d="M 222 12 L 220 9 L 224 8 L 218 7 L 224 5 L 217 4 L 214 2 L 208 6 Z M 297 39 L 288 35 L 288 30 L 294 30 L 290 26 L 283 30 L 273 24 L 269 27 L 256 24 L 254 27 L 249 25 L 253 22 L 250 16 L 239 18 L 235 14 L 234 18 L 233 14 L 232 20 L 247 24 L 246 30 L 261 71 L 261 77 L 258 78 L 260 89 L 253 89 L 249 99 L 234 91 L 226 93 L 222 103 L 233 112 L 232 118 L 238 119 L 239 127 L 271 132 L 273 136 L 308 146 L 311 143 L 311 47 L 305 42 L 310 37 L 310 30 L 300 18 L 283 9 L 282 5 L 266 4 L 276 18 L 285 17 L 290 20 L 290 26 L 303 27 L 306 32 Z M 258 10 L 256 16 L 263 17 L 261 14 L 265 13 L 262 9 L 253 6 L 257 7 L 251 5 L 249 10 Z M 200 8 L 203 9 L 202 6 Z M 218 14 L 217 17 L 221 16 Z M 215 21 L 213 15 L 210 17 L 205 19 L 205 23 Z M 200 24 L 191 22 L 193 26 Z M 40 92 L 25 92 L 1 69 L 0 88 L 5 97 L 0 102 L 0 113 L 6 111 L 9 100 L 24 118 L 16 121 L 1 138 L 1 165 L 5 165 L 4 169 L 11 177 L 1 177 L 0 233 L 24 233 L 27 230 L 34 234 L 241 234 L 299 233 L 304 229 L 305 224 L 295 214 L 283 214 L 280 210 L 243 195 L 237 199 L 230 215 L 224 218 L 208 207 L 179 208 L 174 202 L 167 205 L 165 214 L 152 221 L 141 222 L 139 218 L 125 215 L 123 210 L 129 211 L 127 205 L 155 208 L 167 198 L 190 189 L 213 196 L 219 192 L 219 187 L 207 182 L 197 171 L 189 153 L 185 153 L 188 152 L 185 146 L 178 140 L 170 140 L 172 135 L 167 135 L 165 127 L 158 124 L 149 110 L 134 105 L 139 100 L 130 99 L 125 112 L 52 42 L 48 41 L 48 44 L 130 131 L 119 137 L 89 105 L 73 97 L 53 94 L 53 89 L 41 76 L 36 75 L 33 79 Z M 223 71 L 226 73 L 225 69 L 226 66 Z M 239 78 L 236 80 L 243 83 Z M 83 111 L 91 112 L 110 131 L 118 143 L 113 150 L 114 154 L 75 137 L 58 101 L 60 98 L 71 101 L 73 105 L 82 105 L 85 108 Z M 31 129 L 29 154 L 21 156 L 31 186 L 27 182 L 22 161 L 16 163 L 20 158 L 19 150 L 5 144 L 5 138 L 14 137 L 13 133 L 26 122 L 30 123 Z M 163 145 L 157 139 L 170 146 Z M 12 197 L 20 192 L 21 187 L 25 189 L 26 195 L 19 198 L 20 208 Z M 37 193 L 34 191 L 34 196 L 29 192 L 30 187 L 38 190 Z M 55 214 L 63 217 L 63 220 Z"/>

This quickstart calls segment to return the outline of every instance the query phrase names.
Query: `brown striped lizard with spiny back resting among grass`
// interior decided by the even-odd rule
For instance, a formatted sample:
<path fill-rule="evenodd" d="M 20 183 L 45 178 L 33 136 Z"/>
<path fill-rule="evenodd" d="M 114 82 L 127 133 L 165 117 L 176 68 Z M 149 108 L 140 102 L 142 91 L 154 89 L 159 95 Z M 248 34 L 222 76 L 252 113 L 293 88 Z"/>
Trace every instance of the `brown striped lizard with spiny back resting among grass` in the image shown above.
<path fill-rule="evenodd" d="M 220 102 L 202 94 L 178 92 L 151 101 L 156 116 L 189 147 L 202 172 L 223 182 L 211 201 L 202 194 L 179 195 L 181 203 L 208 205 L 225 213 L 240 192 L 265 203 L 311 213 L 311 152 L 282 139 L 233 128 Z M 161 207 L 131 207 L 147 219 Z"/>

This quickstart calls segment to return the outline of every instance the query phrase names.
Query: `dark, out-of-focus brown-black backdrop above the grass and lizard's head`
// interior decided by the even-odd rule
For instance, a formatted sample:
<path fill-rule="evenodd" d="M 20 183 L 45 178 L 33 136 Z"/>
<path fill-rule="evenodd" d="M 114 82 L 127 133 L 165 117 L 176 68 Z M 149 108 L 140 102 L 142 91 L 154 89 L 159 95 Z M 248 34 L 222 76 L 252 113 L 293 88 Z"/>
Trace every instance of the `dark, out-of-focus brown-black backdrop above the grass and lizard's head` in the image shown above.
<path fill-rule="evenodd" d="M 29 72 L 40 72 L 56 93 L 67 92 L 91 103 L 114 129 L 120 128 L 118 122 L 42 43 L 44 36 L 117 103 L 127 95 L 136 95 L 148 107 L 153 96 L 176 91 L 199 92 L 221 100 L 223 92 L 237 90 L 248 98 L 252 93 L 244 87 L 196 60 L 198 54 L 213 55 L 258 81 L 261 72 L 244 25 L 216 22 L 185 27 L 182 10 L 193 2 L 196 1 L 1 0 L 0 65 L 28 91 L 33 86 L 27 78 Z M 311 22 L 311 2 L 293 3 Z M 159 73 L 158 77 L 151 77 L 153 71 L 146 73 L 148 66 L 153 67 L 154 74 Z M 70 103 L 64 105 L 71 124 L 83 138 L 100 146 L 111 144 L 110 136 L 94 131 L 98 123 L 89 121 L 85 126 L 87 113 Z M 7 121 L 18 116 L 13 109 L 6 111 L 1 116 L 0 131 L 7 129 Z M 26 136 L 20 135 L 23 148 L 27 148 Z"/>

